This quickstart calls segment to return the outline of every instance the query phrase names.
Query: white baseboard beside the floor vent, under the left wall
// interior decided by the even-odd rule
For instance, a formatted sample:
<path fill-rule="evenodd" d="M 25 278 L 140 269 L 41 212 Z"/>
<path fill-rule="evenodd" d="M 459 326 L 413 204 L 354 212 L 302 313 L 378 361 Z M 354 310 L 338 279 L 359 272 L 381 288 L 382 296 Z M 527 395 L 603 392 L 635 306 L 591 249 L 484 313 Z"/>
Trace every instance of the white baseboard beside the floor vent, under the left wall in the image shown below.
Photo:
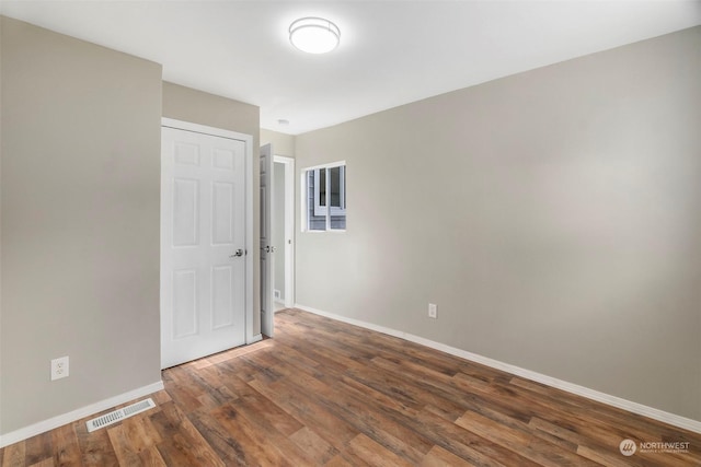
<path fill-rule="evenodd" d="M 28 437 L 36 436 L 49 430 L 54 430 L 58 427 L 62 427 L 68 423 L 72 423 L 76 420 L 80 420 L 85 417 L 90 417 L 103 410 L 111 409 L 115 406 L 128 402 L 129 400 L 138 399 L 139 397 L 148 396 L 149 394 L 157 393 L 163 389 L 163 382 L 149 384 L 148 386 L 139 387 L 138 389 L 129 390 L 128 393 L 120 394 L 118 396 L 111 397 L 108 399 L 101 400 L 90 406 L 82 407 L 80 409 L 70 411 L 68 413 L 60 415 L 58 417 L 50 418 L 48 420 L 34 423 L 32 425 L 21 428 L 16 431 L 11 431 L 0 435 L 0 448 L 9 446 L 10 444 L 19 443 Z"/>

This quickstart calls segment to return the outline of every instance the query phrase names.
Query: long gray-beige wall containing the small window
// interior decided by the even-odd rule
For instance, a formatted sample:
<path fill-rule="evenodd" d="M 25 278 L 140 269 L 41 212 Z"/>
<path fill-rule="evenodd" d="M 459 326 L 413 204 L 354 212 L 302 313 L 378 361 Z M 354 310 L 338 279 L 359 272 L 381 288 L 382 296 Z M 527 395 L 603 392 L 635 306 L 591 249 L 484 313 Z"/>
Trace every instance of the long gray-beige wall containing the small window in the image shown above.
<path fill-rule="evenodd" d="M 696 27 L 297 137 L 297 302 L 701 420 L 700 82 Z"/>

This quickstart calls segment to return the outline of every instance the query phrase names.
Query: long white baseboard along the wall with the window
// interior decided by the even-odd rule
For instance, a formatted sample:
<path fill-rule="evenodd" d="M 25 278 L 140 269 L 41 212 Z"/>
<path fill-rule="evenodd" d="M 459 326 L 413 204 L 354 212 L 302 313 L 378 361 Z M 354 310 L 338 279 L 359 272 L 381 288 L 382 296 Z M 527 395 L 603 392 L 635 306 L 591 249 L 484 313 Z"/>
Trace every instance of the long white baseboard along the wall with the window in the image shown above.
<path fill-rule="evenodd" d="M 609 406 L 618 407 L 619 409 L 623 409 L 623 410 L 628 410 L 629 412 L 645 416 L 651 419 L 658 420 L 674 427 L 693 431 L 696 433 L 701 433 L 701 421 L 698 421 L 698 420 L 692 420 L 675 413 L 666 412 L 664 410 L 655 409 L 653 407 L 644 406 L 642 404 L 633 402 L 631 400 L 622 399 L 617 396 L 611 396 L 609 394 L 601 393 L 595 389 L 589 389 L 588 387 L 579 386 L 574 383 L 558 380 L 555 377 L 537 373 L 530 370 L 521 369 L 519 366 L 512 365 L 509 363 L 499 362 L 498 360 L 490 359 L 487 357 L 482 357 L 476 353 L 472 353 L 455 347 L 446 346 L 445 343 L 436 342 L 436 341 L 425 339 L 420 336 L 414 336 L 412 334 L 407 334 L 401 330 L 391 329 L 384 326 L 374 325 L 371 323 L 366 323 L 359 319 L 347 318 L 345 316 L 336 315 L 334 313 L 327 313 L 321 310 L 315 310 L 310 306 L 300 305 L 298 303 L 295 304 L 295 307 L 302 310 L 304 312 L 313 313 L 315 315 L 325 316 L 327 318 L 335 319 L 338 322 L 359 326 L 366 329 L 371 329 L 378 332 L 387 334 L 389 336 L 399 337 L 401 339 L 409 340 L 410 342 L 420 343 L 422 346 L 440 350 L 441 352 L 446 352 L 451 355 L 460 357 L 462 359 L 470 360 L 475 363 L 481 363 L 483 365 L 491 366 L 496 370 L 502 370 L 504 372 L 512 373 L 517 376 L 531 380 L 538 383 L 542 383 L 558 389 L 566 390 L 567 393 L 576 394 L 577 396 L 586 397 L 587 399 L 591 399 Z"/>

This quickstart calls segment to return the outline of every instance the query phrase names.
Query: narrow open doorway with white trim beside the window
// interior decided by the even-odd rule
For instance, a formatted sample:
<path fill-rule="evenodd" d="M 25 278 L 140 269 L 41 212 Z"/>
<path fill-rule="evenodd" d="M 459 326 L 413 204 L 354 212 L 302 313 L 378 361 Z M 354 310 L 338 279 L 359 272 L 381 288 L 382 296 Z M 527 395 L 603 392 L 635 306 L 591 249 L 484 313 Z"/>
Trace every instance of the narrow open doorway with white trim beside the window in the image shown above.
<path fill-rule="evenodd" d="M 275 311 L 295 306 L 295 160 L 274 156 Z"/>

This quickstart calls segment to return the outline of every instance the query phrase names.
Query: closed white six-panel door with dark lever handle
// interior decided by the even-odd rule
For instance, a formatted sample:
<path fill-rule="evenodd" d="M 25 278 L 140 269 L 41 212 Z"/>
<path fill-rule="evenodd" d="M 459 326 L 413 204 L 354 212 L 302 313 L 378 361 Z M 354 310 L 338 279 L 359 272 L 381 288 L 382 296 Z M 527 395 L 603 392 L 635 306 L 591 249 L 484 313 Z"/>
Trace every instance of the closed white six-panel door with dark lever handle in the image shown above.
<path fill-rule="evenodd" d="M 245 150 L 162 129 L 162 367 L 245 343 Z"/>

